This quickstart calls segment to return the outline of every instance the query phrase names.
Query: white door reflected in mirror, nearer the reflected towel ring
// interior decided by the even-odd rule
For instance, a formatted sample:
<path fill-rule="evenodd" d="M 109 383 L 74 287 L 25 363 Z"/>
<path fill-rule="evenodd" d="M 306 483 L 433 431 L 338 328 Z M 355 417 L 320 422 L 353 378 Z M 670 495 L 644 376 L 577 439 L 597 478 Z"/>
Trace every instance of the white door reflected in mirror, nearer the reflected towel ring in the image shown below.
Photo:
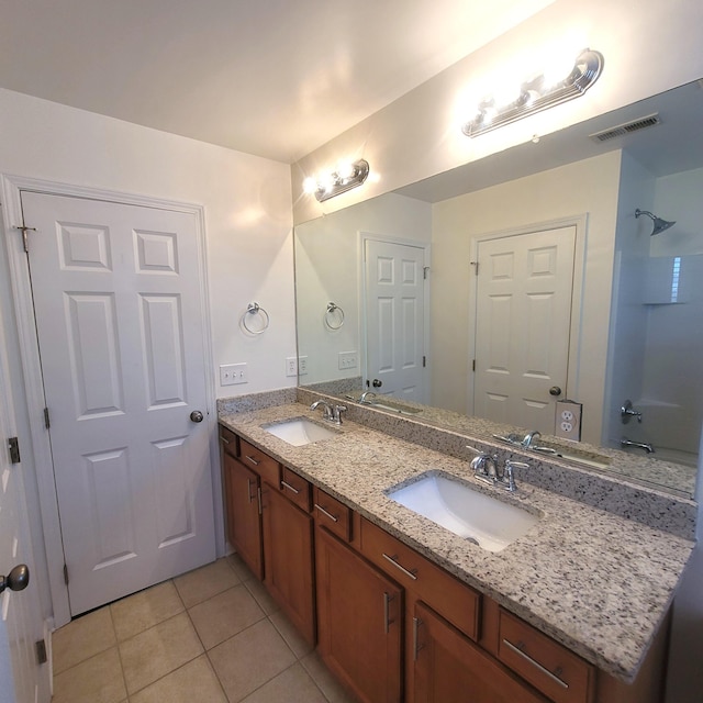
<path fill-rule="evenodd" d="M 367 379 L 379 394 L 420 403 L 427 400 L 424 257 L 422 247 L 366 239 Z"/>

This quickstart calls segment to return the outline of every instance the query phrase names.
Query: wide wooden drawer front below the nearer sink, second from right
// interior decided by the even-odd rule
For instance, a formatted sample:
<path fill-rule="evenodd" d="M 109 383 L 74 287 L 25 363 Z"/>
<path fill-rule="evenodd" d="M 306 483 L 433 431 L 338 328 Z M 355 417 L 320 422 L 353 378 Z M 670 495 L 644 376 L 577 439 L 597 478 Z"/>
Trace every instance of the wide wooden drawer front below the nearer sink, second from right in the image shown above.
<path fill-rule="evenodd" d="M 478 640 L 480 593 L 367 520 L 361 520 L 361 554 Z"/>

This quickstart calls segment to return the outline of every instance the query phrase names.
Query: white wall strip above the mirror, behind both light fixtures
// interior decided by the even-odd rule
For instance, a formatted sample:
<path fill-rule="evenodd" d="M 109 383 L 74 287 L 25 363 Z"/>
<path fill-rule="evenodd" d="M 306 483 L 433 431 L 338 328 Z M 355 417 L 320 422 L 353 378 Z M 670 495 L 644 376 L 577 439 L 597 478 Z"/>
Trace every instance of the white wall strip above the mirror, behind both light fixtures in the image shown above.
<path fill-rule="evenodd" d="M 695 0 L 557 0 L 300 159 L 291 171 L 295 224 L 696 80 L 703 76 L 701 26 L 703 3 Z M 590 46 L 605 58 L 601 78 L 584 97 L 480 138 L 464 136 L 467 88 L 506 65 L 516 65 L 520 78 L 538 49 L 566 40 L 574 52 Z M 306 176 L 348 157 L 371 165 L 362 187 L 324 204 L 301 194 Z"/>

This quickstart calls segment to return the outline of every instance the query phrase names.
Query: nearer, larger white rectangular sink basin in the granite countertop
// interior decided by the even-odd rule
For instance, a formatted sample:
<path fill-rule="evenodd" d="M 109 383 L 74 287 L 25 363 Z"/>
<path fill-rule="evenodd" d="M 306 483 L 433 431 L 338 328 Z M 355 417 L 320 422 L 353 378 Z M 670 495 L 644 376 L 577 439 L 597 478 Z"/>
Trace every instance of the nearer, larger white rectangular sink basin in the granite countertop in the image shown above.
<path fill-rule="evenodd" d="M 522 507 L 440 473 L 427 473 L 388 496 L 488 551 L 505 549 L 539 521 Z"/>

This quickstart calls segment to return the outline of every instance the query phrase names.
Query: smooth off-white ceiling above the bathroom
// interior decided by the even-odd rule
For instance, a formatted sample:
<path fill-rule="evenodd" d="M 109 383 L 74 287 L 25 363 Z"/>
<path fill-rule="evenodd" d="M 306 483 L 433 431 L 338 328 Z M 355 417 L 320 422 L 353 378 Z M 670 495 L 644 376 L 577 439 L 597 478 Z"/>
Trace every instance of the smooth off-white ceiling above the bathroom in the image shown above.
<path fill-rule="evenodd" d="M 0 0 L 0 87 L 292 163 L 554 0 Z"/>

